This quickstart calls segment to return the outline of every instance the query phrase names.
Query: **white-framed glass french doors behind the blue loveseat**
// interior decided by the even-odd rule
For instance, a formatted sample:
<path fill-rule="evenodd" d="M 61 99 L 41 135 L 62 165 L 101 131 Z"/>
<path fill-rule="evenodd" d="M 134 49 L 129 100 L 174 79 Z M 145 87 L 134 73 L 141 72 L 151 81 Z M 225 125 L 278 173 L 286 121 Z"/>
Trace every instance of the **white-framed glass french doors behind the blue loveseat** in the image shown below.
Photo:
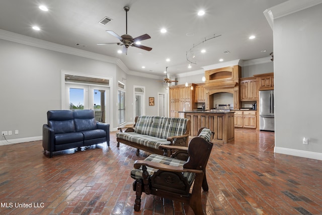
<path fill-rule="evenodd" d="M 99 85 L 65 84 L 65 109 L 90 109 L 95 110 L 96 120 L 108 123 L 110 88 Z"/>

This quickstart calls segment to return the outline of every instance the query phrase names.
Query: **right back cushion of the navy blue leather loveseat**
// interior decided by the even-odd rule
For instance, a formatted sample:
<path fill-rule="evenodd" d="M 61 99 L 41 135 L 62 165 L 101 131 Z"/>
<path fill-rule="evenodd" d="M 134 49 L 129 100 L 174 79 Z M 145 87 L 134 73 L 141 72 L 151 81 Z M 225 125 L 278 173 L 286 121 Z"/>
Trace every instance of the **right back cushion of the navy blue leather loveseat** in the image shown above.
<path fill-rule="evenodd" d="M 97 128 L 94 110 L 74 110 L 73 116 L 76 131 L 95 130 Z"/>

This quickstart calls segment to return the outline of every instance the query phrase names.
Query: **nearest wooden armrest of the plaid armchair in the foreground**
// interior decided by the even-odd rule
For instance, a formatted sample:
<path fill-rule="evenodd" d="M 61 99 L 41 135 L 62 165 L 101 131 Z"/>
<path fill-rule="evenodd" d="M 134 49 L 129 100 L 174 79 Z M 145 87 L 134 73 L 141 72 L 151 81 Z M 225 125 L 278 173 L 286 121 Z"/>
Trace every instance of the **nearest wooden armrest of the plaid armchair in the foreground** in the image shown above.
<path fill-rule="evenodd" d="M 200 174 L 202 173 L 202 170 L 196 170 L 196 169 L 187 169 L 183 167 L 175 167 L 175 166 L 170 166 L 167 164 L 160 164 L 152 161 L 142 161 L 142 160 L 137 160 L 134 163 L 134 168 L 135 169 L 140 169 L 141 166 L 148 166 L 154 169 L 159 169 L 163 171 L 169 171 L 169 172 L 191 172 L 191 173 L 196 173 Z"/>

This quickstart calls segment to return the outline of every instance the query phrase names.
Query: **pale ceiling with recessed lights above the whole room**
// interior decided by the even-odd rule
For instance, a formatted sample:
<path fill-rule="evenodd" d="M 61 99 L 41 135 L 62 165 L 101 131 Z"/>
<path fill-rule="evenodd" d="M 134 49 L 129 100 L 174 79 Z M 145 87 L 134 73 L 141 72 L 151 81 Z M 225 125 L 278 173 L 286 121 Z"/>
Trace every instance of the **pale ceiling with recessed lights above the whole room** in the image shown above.
<path fill-rule="evenodd" d="M 162 76 L 166 66 L 168 73 L 180 74 L 219 63 L 220 58 L 225 62 L 270 56 L 273 32 L 263 12 L 283 2 L 286 0 L 1 0 L 0 29 L 117 57 L 131 71 Z M 49 11 L 39 10 L 39 5 Z M 125 34 L 124 6 L 130 7 L 128 34 L 133 38 L 150 35 L 141 44 L 152 47 L 151 51 L 129 47 L 125 55 L 117 53 L 121 46 L 116 44 L 97 45 L 119 42 L 106 30 Z M 205 11 L 202 17 L 197 15 L 201 9 Z M 106 16 L 112 21 L 99 24 Z M 34 25 L 41 30 L 33 30 Z M 160 33 L 161 28 L 168 32 Z M 221 36 L 210 39 L 214 35 Z M 250 35 L 256 38 L 250 40 Z M 201 47 L 206 53 L 200 53 Z M 189 60 L 196 64 L 186 58 L 191 48 L 196 57 Z M 230 53 L 224 54 L 226 50 Z"/>

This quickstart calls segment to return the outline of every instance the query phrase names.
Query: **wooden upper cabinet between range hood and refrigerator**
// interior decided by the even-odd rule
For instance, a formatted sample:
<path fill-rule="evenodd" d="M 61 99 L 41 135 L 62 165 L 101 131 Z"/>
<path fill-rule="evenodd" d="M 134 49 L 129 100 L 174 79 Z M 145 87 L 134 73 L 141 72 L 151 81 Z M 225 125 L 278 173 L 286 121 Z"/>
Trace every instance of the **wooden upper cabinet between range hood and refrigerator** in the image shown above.
<path fill-rule="evenodd" d="M 240 79 L 240 101 L 256 101 L 258 98 L 256 78 Z"/>

